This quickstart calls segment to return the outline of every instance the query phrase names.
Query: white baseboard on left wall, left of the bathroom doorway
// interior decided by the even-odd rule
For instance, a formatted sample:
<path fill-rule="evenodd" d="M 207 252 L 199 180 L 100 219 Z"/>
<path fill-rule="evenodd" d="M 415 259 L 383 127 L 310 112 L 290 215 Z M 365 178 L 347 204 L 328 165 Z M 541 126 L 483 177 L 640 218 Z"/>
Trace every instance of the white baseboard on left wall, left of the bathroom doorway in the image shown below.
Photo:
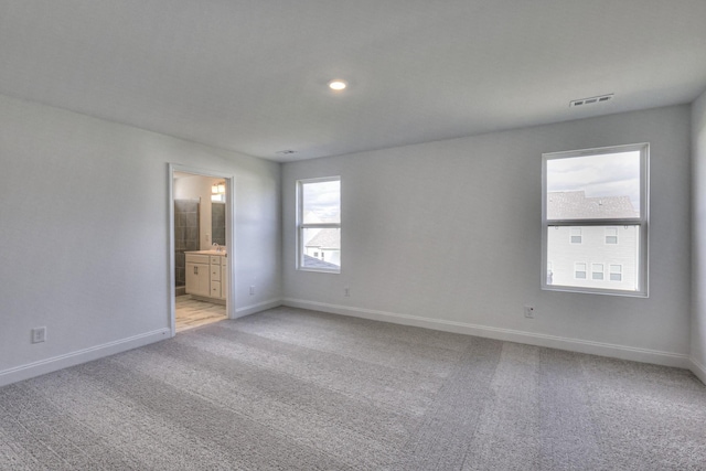
<path fill-rule="evenodd" d="M 116 353 L 126 352 L 137 349 L 160 340 L 171 338 L 170 329 L 160 329 L 152 332 L 130 336 L 128 339 L 117 340 L 115 342 L 104 343 L 76 352 L 66 353 L 64 355 L 53 356 L 51 358 L 40 360 L 39 362 L 29 363 L 26 365 L 17 366 L 0 372 L 0 386 L 6 386 L 19 381 L 29 379 L 46 373 L 68 366 L 78 365 L 81 363 L 90 362 Z"/>

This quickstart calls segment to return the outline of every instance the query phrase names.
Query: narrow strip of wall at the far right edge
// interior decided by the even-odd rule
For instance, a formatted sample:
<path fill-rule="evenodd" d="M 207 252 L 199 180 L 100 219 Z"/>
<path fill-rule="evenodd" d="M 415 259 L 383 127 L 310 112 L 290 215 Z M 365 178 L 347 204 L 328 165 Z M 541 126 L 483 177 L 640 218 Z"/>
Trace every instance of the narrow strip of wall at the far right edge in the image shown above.
<path fill-rule="evenodd" d="M 706 92 L 692 105 L 692 371 L 706 383 Z"/>

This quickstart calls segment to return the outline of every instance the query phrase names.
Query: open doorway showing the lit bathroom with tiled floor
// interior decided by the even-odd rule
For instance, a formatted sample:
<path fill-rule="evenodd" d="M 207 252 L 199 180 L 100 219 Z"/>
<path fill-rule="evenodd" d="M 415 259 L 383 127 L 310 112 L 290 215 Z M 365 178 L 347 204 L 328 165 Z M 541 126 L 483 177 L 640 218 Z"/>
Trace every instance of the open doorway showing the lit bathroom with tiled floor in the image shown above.
<path fill-rule="evenodd" d="M 169 165 L 172 336 L 233 317 L 232 194 L 232 175 Z"/>

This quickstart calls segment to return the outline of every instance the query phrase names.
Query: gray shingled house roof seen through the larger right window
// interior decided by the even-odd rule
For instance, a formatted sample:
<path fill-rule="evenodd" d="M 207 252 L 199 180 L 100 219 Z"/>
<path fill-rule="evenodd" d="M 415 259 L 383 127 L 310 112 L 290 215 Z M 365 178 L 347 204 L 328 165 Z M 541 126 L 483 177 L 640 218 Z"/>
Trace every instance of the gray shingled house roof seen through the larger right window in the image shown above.
<path fill-rule="evenodd" d="M 638 217 L 629 196 L 587 197 L 582 191 L 547 193 L 547 220 Z"/>

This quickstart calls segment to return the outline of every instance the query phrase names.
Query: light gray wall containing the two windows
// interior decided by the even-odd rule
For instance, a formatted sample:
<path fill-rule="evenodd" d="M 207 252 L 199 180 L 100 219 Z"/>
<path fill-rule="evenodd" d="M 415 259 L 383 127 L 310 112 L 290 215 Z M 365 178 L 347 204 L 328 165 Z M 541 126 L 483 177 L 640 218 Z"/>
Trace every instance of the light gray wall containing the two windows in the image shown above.
<path fill-rule="evenodd" d="M 542 291 L 542 153 L 637 142 L 651 142 L 650 298 Z M 676 106 L 287 163 L 285 302 L 687 366 L 689 147 Z M 295 181 L 327 175 L 342 179 L 341 274 L 296 271 Z"/>

